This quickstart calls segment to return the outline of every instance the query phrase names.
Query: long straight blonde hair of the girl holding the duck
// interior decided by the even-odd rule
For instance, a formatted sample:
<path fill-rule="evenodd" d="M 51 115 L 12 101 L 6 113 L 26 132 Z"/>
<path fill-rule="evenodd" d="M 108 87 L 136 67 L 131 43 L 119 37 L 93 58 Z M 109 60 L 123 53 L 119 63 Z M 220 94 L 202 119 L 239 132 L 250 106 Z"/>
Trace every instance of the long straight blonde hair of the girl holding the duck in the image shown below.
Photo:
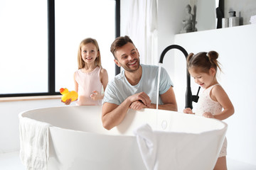
<path fill-rule="evenodd" d="M 98 67 L 102 67 L 101 65 L 101 58 L 100 58 L 100 47 L 97 43 L 97 40 L 93 39 L 93 38 L 85 38 L 85 40 L 82 40 L 80 42 L 79 48 L 78 48 L 78 69 L 82 69 L 85 67 L 86 62 L 84 60 L 82 60 L 82 55 L 81 55 L 81 47 L 82 45 L 86 45 L 92 43 L 93 45 L 95 45 L 96 49 L 97 49 L 97 53 L 99 54 L 98 57 L 96 57 L 95 59 L 95 65 Z"/>

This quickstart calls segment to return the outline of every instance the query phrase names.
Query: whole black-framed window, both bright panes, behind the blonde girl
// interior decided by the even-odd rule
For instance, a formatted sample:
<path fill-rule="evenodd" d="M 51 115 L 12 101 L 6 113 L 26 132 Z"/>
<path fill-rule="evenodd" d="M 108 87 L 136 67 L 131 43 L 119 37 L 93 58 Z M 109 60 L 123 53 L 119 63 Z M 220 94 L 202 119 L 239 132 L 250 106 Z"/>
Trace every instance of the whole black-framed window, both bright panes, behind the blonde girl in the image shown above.
<path fill-rule="evenodd" d="M 110 45 L 118 35 L 118 4 L 114 0 L 1 0 L 0 97 L 74 89 L 78 45 L 87 37 L 99 43 L 102 67 L 112 79 Z M 49 19 L 53 26 L 48 25 Z"/>

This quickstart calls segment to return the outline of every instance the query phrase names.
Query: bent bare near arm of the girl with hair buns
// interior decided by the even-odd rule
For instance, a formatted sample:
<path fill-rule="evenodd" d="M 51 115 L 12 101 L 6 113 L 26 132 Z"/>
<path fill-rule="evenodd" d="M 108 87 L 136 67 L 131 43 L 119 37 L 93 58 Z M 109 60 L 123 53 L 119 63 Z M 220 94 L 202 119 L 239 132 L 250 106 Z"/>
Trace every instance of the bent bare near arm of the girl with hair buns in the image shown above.
<path fill-rule="evenodd" d="M 218 103 L 223 106 L 223 111 L 213 115 L 213 118 L 224 120 L 230 117 L 230 115 L 234 114 L 235 109 L 233 104 L 231 103 L 230 98 L 228 98 L 228 95 L 225 93 L 222 86 L 213 87 L 210 97 L 213 99 L 213 101 L 218 101 Z"/>

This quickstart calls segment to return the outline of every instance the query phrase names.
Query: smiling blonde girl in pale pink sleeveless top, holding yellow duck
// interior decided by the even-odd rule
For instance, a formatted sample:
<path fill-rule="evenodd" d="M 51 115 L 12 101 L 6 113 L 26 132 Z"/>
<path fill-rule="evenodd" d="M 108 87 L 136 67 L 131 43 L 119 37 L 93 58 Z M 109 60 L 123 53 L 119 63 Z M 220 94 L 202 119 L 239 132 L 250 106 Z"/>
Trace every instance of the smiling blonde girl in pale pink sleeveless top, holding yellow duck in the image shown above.
<path fill-rule="evenodd" d="M 78 70 L 74 73 L 77 105 L 102 105 L 102 87 L 108 83 L 107 70 L 102 68 L 97 40 L 86 38 L 78 48 Z M 65 102 L 69 105 L 71 100 Z"/>

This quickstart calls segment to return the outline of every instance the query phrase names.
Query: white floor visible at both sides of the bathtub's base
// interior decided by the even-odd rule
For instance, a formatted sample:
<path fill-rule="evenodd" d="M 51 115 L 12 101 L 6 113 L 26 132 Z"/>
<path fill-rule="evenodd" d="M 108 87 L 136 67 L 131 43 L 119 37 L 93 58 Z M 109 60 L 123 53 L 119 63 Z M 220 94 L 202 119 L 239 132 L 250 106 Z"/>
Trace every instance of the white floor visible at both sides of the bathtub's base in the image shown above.
<path fill-rule="evenodd" d="M 228 170 L 256 170 L 255 165 L 237 162 L 228 159 Z M 26 170 L 25 166 L 21 164 L 18 157 L 18 152 L 11 152 L 7 154 L 0 154 L 0 169 L 1 170 Z"/>

